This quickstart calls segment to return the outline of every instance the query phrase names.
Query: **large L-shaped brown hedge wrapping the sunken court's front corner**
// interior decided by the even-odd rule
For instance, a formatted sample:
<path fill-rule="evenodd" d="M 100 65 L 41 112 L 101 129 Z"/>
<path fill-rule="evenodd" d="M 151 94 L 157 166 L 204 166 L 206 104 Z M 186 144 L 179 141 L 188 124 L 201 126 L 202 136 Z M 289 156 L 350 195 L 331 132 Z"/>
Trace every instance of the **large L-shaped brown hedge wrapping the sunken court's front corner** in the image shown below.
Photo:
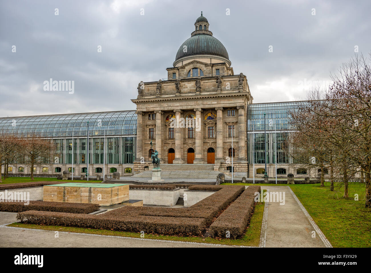
<path fill-rule="evenodd" d="M 17 219 L 33 224 L 104 228 L 108 230 L 141 231 L 159 234 L 199 236 L 221 210 L 243 192 L 244 186 L 219 186 L 216 193 L 188 208 L 125 206 L 104 214 L 18 213 Z"/>

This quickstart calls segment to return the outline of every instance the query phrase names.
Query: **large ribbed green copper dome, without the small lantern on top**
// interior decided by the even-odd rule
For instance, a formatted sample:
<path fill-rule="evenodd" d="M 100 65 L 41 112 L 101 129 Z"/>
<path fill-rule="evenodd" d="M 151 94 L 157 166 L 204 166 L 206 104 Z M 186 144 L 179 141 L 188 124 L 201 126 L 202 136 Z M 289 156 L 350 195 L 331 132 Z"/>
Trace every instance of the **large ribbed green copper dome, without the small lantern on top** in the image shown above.
<path fill-rule="evenodd" d="M 187 52 L 184 52 L 187 46 Z M 223 44 L 209 34 L 196 34 L 179 47 L 175 61 L 189 55 L 212 54 L 224 57 L 229 60 L 228 52 Z"/>

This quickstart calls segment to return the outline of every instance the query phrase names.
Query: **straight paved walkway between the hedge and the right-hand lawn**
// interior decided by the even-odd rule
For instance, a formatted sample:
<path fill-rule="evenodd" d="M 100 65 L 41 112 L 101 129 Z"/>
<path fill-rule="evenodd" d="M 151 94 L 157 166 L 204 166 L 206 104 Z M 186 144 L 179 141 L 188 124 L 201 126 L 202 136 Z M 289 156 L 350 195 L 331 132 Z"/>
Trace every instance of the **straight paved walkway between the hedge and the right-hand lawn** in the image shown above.
<path fill-rule="evenodd" d="M 285 193 L 284 205 L 272 200 L 266 204 L 261 247 L 331 247 L 290 187 L 264 185 L 261 188 L 269 190 L 270 194 L 281 193 L 282 197 Z"/>

